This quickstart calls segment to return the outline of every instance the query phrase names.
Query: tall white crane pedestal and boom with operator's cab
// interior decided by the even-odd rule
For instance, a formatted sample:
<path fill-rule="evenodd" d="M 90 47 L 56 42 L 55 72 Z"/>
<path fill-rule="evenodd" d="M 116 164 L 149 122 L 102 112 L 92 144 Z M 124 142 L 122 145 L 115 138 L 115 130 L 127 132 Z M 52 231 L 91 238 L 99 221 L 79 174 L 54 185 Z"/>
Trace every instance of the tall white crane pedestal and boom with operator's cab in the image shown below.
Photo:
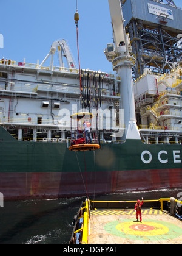
<path fill-rule="evenodd" d="M 133 93 L 132 66 L 135 65 L 135 57 L 132 56 L 129 35 L 124 27 L 123 12 L 120 0 L 108 0 L 110 16 L 113 28 L 114 44 L 107 44 L 104 53 L 107 60 L 112 62 L 113 71 L 121 77 L 119 85 L 120 107 L 124 109 L 125 133 L 124 139 L 140 140 L 140 133 L 136 125 L 135 100 Z"/>

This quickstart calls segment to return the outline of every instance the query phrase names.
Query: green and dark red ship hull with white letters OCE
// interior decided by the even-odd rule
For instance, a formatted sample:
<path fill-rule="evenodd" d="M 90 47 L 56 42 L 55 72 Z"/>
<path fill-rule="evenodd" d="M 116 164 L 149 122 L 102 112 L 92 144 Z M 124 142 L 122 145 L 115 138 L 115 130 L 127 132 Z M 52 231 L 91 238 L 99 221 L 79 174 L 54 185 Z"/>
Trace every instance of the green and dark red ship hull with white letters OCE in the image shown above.
<path fill-rule="evenodd" d="M 141 140 L 70 152 L 67 143 L 17 141 L 0 127 L 0 192 L 10 200 L 181 188 L 181 154 L 180 144 Z"/>

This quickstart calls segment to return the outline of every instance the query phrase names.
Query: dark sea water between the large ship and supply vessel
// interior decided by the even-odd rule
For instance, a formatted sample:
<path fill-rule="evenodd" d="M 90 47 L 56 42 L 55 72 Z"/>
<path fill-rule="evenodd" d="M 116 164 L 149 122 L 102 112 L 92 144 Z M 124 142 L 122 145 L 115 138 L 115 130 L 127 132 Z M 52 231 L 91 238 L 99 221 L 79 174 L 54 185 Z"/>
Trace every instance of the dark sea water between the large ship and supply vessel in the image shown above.
<path fill-rule="evenodd" d="M 181 188 L 182 190 L 182 188 Z M 175 197 L 182 192 L 154 190 L 90 196 L 95 200 L 137 200 Z M 5 201 L 0 207 L 0 244 L 68 244 L 73 230 L 73 218 L 86 199 L 44 199 Z M 179 198 L 177 198 L 179 199 Z M 135 205 L 133 204 L 133 208 Z"/>

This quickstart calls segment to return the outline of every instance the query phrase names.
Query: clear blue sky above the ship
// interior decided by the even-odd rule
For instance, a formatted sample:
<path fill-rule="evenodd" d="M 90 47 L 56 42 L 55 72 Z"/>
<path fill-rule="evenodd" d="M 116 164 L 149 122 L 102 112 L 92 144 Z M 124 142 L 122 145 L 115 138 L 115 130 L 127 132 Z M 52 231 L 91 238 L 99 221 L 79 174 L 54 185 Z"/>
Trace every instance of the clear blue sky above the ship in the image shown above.
<path fill-rule="evenodd" d="M 181 0 L 174 0 L 182 8 Z M 64 38 L 69 42 L 78 63 L 74 14 L 76 0 L 0 0 L 0 34 L 4 48 L 0 59 L 27 63 L 42 62 L 53 41 Z M 79 54 L 81 68 L 112 71 L 104 55 L 112 42 L 109 4 L 107 0 L 78 0 Z M 55 56 L 55 65 L 58 57 Z"/>

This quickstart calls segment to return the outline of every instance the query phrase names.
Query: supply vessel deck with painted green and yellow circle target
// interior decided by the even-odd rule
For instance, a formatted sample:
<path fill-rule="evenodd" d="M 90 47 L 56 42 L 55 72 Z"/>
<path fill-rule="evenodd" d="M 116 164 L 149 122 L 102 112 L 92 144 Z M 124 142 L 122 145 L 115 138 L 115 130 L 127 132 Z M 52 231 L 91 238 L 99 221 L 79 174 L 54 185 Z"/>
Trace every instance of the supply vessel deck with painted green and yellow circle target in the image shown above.
<path fill-rule="evenodd" d="M 136 201 L 89 201 L 75 216 L 69 244 L 181 244 L 181 201 L 144 201 L 142 222 L 136 222 Z M 178 204 L 178 213 L 176 205 Z"/>

